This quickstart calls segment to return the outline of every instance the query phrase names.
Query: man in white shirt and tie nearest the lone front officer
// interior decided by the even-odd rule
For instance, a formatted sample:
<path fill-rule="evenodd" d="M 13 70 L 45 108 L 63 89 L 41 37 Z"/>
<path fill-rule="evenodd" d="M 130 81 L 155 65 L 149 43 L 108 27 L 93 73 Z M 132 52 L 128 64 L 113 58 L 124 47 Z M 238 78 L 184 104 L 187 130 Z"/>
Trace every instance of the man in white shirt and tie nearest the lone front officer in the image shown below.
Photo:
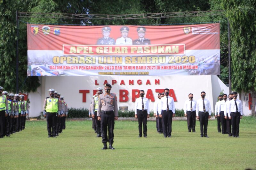
<path fill-rule="evenodd" d="M 135 100 L 134 112 L 135 118 L 139 122 L 139 136 L 142 137 L 142 123 L 143 123 L 143 136 L 147 137 L 147 118 L 149 118 L 149 102 L 144 97 L 144 90 L 140 90 L 140 97 Z"/>

